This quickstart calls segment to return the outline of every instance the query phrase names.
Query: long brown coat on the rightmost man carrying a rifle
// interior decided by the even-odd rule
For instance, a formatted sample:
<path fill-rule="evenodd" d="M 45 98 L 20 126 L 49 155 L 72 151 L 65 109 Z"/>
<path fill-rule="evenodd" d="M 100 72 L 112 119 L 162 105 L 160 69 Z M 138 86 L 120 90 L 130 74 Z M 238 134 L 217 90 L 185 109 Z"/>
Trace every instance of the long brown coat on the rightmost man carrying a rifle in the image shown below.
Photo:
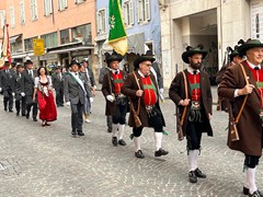
<path fill-rule="evenodd" d="M 249 83 L 253 84 L 255 89 L 248 96 L 247 104 L 237 125 L 240 140 L 231 141 L 228 134 L 228 147 L 244 154 L 260 157 L 262 154 L 262 126 L 259 116 L 261 97 L 256 91 L 258 86 L 252 72 L 244 62 L 242 65 L 249 78 Z M 235 116 L 238 115 L 244 100 L 244 96 L 233 97 L 235 90 L 242 89 L 244 85 L 245 80 L 241 67 L 236 65 L 227 69 L 218 88 L 218 95 L 227 97 L 233 103 Z"/>

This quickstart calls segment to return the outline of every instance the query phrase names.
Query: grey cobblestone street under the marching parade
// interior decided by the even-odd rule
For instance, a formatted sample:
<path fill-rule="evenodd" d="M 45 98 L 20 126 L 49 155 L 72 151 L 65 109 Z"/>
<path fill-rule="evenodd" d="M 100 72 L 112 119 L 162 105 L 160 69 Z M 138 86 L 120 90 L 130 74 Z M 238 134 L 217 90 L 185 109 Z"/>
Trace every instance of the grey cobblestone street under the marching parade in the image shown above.
<path fill-rule="evenodd" d="M 216 88 L 213 88 L 214 103 Z M 165 91 L 165 96 L 168 91 Z M 175 134 L 175 107 L 170 100 L 161 104 L 167 121 L 163 148 L 169 154 L 155 158 L 151 129 L 142 134 L 144 160 L 134 157 L 132 129 L 126 127 L 126 147 L 113 147 L 106 131 L 105 101 L 100 91 L 92 105 L 91 124 L 84 124 L 84 137 L 70 136 L 70 108 L 58 108 L 58 120 L 41 127 L 15 113 L 3 111 L 0 97 L 0 196 L 243 196 L 243 155 L 231 151 L 227 142 L 228 116 L 216 112 L 211 125 L 214 137 L 203 135 L 198 160 L 206 179 L 191 184 L 187 179 L 185 140 Z M 263 190 L 262 162 L 256 182 Z"/>

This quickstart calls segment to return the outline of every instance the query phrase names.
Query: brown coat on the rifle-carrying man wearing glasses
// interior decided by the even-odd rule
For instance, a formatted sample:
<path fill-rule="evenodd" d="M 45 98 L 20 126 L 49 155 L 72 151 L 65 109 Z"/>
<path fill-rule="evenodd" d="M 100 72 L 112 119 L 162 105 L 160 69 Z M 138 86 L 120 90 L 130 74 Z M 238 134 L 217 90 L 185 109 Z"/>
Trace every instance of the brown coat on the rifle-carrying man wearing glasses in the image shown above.
<path fill-rule="evenodd" d="M 142 85 L 142 82 L 140 80 L 139 73 L 136 71 L 135 74 L 136 74 L 136 77 L 138 79 L 140 89 L 144 90 L 144 85 Z M 153 82 L 156 89 L 158 89 L 155 77 L 152 74 L 150 74 L 150 78 L 151 78 L 151 81 Z M 135 81 L 134 73 L 129 73 L 127 76 L 127 78 L 125 79 L 125 81 L 124 81 L 124 85 L 122 86 L 122 93 L 127 95 L 127 96 L 129 96 L 132 99 L 132 102 L 134 104 L 135 111 L 137 111 L 137 108 L 138 108 L 138 97 L 136 96 L 136 91 L 137 90 L 139 90 L 139 88 L 137 85 L 137 82 Z M 147 117 L 147 113 L 146 113 L 146 106 L 145 106 L 142 96 L 140 99 L 140 111 L 139 111 L 139 115 L 138 116 L 140 118 L 142 127 L 151 127 L 151 125 L 148 121 L 148 117 Z M 159 105 L 159 100 L 158 100 L 156 106 L 161 112 L 161 108 L 160 108 L 160 105 Z M 161 118 L 162 118 L 163 126 L 165 126 L 162 113 L 161 113 Z M 132 112 L 129 113 L 129 126 L 130 127 L 136 127 L 134 115 L 133 115 Z"/>

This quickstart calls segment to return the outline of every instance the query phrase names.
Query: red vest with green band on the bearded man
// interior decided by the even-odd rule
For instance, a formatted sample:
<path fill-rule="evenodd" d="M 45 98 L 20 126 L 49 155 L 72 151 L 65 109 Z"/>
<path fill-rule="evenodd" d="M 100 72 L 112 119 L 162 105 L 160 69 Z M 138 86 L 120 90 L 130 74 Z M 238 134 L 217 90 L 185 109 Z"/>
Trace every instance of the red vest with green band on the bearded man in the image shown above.
<path fill-rule="evenodd" d="M 188 72 L 188 81 L 191 88 L 191 100 L 201 101 L 199 73 L 192 74 Z"/>

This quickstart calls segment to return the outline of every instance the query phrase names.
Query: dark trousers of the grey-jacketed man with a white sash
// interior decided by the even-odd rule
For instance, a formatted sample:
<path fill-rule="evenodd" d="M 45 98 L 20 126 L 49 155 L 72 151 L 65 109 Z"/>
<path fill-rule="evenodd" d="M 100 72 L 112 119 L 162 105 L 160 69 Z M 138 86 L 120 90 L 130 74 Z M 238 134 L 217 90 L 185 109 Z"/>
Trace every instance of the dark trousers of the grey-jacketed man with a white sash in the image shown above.
<path fill-rule="evenodd" d="M 84 105 L 82 105 L 80 102 L 78 104 L 71 104 L 71 128 L 73 131 L 82 131 L 82 125 L 83 125 L 83 109 Z"/>

